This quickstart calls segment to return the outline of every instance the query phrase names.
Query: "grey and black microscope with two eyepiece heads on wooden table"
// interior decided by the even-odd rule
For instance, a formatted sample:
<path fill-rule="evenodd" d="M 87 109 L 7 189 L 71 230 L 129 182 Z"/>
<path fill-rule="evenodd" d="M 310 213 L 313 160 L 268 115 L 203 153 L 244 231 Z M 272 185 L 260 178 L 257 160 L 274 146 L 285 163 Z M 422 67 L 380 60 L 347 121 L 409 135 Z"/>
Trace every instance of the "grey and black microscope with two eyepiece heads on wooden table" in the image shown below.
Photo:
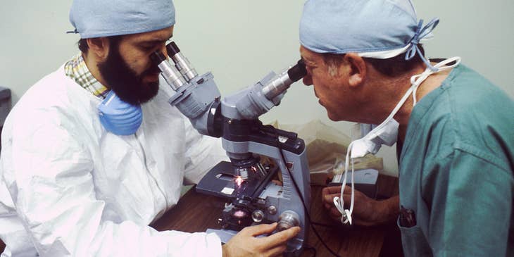
<path fill-rule="evenodd" d="M 307 239 L 311 201 L 306 147 L 294 132 L 263 125 L 258 116 L 280 104 L 289 86 L 306 75 L 303 61 L 221 99 L 213 75 L 198 75 L 175 42 L 152 62 L 175 91 L 169 99 L 199 133 L 221 137 L 230 162 L 215 165 L 196 185 L 196 191 L 225 199 L 218 234 L 226 243 L 250 225 L 278 222 L 277 230 L 299 226 L 287 244 L 287 256 L 299 256 Z M 268 161 L 265 161 L 268 160 Z M 273 182 L 282 177 L 282 184 Z"/>

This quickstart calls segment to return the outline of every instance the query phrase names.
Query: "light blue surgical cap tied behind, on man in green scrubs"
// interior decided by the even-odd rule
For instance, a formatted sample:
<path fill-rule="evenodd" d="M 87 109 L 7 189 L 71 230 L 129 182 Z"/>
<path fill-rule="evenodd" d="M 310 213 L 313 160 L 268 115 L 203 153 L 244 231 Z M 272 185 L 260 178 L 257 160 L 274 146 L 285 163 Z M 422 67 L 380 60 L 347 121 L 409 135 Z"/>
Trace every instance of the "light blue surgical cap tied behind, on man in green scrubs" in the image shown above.
<path fill-rule="evenodd" d="M 308 0 L 300 21 L 300 43 L 316 53 L 358 53 L 391 58 L 419 54 L 418 44 L 439 23 L 418 22 L 410 0 Z"/>

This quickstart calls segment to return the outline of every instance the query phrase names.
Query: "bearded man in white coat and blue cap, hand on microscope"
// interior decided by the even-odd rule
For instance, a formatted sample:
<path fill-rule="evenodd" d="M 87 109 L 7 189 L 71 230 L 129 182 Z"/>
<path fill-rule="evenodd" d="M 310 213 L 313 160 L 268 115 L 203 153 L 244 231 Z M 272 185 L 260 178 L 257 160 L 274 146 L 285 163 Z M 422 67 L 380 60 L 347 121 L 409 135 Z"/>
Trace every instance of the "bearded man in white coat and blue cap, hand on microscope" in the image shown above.
<path fill-rule="evenodd" d="M 281 254 L 299 227 L 247 227 L 222 246 L 149 226 L 227 158 L 159 87 L 149 56 L 165 53 L 173 2 L 75 0 L 70 22 L 81 53 L 31 87 L 2 132 L 1 256 Z"/>

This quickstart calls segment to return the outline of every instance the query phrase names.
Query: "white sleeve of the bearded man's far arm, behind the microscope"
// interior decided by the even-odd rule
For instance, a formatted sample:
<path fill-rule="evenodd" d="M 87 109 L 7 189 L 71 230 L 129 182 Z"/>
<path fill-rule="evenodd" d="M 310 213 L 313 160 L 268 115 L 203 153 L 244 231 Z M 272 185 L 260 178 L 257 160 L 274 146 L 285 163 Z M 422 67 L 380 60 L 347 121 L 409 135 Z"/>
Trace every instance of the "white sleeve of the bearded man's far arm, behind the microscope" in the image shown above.
<path fill-rule="evenodd" d="M 184 184 L 198 184 L 214 165 L 228 161 L 227 153 L 221 146 L 221 139 L 204 136 L 197 132 L 187 118 L 184 118 L 186 130 L 186 165 Z"/>

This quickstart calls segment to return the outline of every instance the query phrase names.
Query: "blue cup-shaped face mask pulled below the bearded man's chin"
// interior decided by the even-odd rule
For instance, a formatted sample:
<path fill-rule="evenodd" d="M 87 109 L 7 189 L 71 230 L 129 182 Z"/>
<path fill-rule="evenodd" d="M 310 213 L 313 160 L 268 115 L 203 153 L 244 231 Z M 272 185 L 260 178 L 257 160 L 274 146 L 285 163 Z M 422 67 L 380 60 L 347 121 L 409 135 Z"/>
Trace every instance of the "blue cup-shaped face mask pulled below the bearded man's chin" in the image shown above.
<path fill-rule="evenodd" d="M 117 135 L 134 134 L 143 121 L 141 106 L 122 101 L 112 90 L 98 106 L 100 123 Z"/>

